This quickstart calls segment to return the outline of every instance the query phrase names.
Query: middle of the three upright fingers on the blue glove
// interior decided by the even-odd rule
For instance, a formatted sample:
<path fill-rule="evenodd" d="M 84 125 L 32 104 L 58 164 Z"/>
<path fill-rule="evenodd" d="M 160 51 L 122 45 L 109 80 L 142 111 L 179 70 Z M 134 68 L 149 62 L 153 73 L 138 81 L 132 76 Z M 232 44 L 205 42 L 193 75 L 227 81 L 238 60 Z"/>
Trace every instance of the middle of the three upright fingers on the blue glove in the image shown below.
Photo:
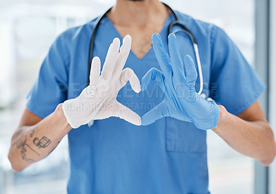
<path fill-rule="evenodd" d="M 174 83 L 184 83 L 184 68 L 180 55 L 179 44 L 175 34 L 168 35 L 168 50 L 172 61 L 172 72 Z"/>

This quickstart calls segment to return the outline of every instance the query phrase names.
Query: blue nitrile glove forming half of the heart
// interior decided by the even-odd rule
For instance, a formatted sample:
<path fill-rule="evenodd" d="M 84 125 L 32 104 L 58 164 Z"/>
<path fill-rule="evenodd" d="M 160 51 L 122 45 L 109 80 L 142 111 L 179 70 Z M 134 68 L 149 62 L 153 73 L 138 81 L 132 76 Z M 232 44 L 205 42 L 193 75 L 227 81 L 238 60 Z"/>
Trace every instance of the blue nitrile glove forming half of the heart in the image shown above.
<path fill-rule="evenodd" d="M 193 59 L 184 56 L 181 60 L 175 34 L 168 36 L 170 57 L 164 49 L 159 34 L 152 35 L 152 45 L 162 72 L 150 69 L 141 80 L 141 90 L 145 91 L 155 81 L 164 91 L 164 100 L 142 117 L 142 125 L 150 125 L 159 118 L 170 116 L 178 120 L 193 122 L 198 129 L 213 129 L 219 120 L 219 107 L 213 100 L 205 100 L 195 91 L 197 71 Z M 186 76 L 185 76 L 186 75 Z"/>

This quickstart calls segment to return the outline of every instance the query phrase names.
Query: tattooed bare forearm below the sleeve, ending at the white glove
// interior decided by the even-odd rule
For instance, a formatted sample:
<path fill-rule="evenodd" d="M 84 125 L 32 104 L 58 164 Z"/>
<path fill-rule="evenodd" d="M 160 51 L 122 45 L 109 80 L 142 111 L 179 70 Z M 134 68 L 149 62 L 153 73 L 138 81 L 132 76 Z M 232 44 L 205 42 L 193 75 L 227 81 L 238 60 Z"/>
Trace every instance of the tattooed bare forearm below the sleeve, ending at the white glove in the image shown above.
<path fill-rule="evenodd" d="M 36 125 L 19 127 L 12 136 L 8 155 L 12 168 L 22 171 L 28 165 L 45 158 L 70 129 L 61 105 Z"/>

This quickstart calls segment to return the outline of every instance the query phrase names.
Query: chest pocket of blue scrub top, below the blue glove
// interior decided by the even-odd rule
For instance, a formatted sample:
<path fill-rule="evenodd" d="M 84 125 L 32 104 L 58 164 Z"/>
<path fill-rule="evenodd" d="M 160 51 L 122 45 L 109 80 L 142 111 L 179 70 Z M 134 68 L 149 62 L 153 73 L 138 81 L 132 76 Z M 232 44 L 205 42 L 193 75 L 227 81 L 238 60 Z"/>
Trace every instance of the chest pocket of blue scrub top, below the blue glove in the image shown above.
<path fill-rule="evenodd" d="M 192 122 L 166 118 L 166 151 L 206 152 L 206 131 L 197 129 Z"/>

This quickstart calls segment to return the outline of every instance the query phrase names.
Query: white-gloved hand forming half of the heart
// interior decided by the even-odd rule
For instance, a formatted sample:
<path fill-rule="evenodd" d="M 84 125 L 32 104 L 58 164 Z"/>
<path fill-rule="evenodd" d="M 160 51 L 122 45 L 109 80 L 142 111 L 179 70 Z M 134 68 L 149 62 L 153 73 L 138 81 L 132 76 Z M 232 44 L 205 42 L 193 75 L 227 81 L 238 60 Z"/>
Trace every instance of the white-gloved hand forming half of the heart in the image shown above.
<path fill-rule="evenodd" d="M 87 124 L 90 120 L 99 120 L 116 116 L 134 125 L 141 125 L 141 118 L 135 112 L 116 100 L 119 90 L 130 82 L 132 89 L 139 93 L 140 82 L 132 69 L 124 68 L 130 52 L 131 37 L 127 35 L 119 51 L 120 41 L 114 39 L 108 49 L 106 61 L 101 71 L 98 57 L 92 59 L 90 85 L 81 91 L 77 98 L 66 100 L 62 109 L 72 128 Z M 100 75 L 101 71 L 101 75 Z"/>

